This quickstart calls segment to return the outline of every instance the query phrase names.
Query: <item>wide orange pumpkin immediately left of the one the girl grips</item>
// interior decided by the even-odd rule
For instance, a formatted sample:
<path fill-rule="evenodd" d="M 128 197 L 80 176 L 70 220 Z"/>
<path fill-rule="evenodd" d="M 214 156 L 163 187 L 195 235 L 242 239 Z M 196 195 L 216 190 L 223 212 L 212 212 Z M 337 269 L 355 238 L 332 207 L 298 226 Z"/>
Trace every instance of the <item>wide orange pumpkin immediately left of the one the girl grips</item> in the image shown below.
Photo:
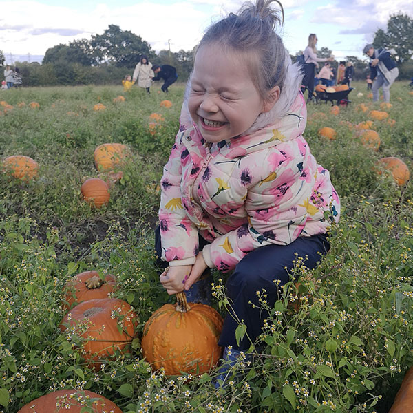
<path fill-rule="evenodd" d="M 67 336 L 81 337 L 81 354 L 89 366 L 100 370 L 103 360 L 116 351 L 127 351 L 135 336 L 137 316 L 126 301 L 89 299 L 65 315 L 59 328 Z"/>

